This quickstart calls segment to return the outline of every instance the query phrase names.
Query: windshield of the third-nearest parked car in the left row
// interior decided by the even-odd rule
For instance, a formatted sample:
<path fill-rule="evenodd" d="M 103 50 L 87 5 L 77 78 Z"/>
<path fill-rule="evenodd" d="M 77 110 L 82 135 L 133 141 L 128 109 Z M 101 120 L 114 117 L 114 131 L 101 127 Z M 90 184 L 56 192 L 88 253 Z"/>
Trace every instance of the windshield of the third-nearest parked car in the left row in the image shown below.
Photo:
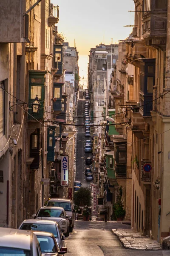
<path fill-rule="evenodd" d="M 55 238 L 58 238 L 56 225 L 40 224 L 40 223 L 23 223 L 20 229 L 50 232 L 54 234 Z"/>

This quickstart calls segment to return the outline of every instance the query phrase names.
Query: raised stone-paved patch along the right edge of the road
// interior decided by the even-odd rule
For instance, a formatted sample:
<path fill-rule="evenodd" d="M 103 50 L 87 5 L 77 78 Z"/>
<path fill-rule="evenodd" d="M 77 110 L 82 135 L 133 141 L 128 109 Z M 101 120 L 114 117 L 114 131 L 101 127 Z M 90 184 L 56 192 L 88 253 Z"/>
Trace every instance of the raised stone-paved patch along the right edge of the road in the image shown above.
<path fill-rule="evenodd" d="M 161 246 L 156 240 L 142 236 L 142 233 L 129 229 L 113 229 L 113 233 L 119 237 L 123 246 L 127 249 L 136 250 L 161 250 Z"/>

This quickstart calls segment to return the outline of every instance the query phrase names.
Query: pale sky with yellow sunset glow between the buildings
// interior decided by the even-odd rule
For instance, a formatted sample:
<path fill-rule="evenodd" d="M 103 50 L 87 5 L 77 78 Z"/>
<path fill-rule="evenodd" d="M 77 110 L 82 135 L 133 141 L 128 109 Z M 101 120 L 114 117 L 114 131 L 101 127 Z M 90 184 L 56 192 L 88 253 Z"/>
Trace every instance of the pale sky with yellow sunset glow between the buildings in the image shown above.
<path fill-rule="evenodd" d="M 80 76 L 87 77 L 87 55 L 100 43 L 118 43 L 127 38 L 134 25 L 133 0 L 51 0 L 59 6 L 58 32 L 79 52 Z M 82 56 L 82 55 L 86 55 Z"/>

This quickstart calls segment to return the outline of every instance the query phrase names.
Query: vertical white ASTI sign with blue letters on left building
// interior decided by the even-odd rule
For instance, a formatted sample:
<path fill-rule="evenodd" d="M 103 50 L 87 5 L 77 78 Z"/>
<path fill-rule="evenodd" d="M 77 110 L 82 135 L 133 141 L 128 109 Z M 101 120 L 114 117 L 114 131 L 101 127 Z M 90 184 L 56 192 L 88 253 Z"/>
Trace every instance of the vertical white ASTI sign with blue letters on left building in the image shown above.
<path fill-rule="evenodd" d="M 61 156 L 61 186 L 68 186 L 68 156 Z"/>

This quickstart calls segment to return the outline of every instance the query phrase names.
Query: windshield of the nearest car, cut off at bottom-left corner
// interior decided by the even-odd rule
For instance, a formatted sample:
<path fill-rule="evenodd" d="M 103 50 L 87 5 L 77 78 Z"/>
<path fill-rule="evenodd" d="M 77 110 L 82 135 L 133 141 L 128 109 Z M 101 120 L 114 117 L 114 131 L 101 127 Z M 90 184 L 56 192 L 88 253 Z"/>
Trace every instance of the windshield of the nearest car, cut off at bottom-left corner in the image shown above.
<path fill-rule="evenodd" d="M 0 256 L 30 256 L 30 252 L 24 249 L 0 246 Z"/>

